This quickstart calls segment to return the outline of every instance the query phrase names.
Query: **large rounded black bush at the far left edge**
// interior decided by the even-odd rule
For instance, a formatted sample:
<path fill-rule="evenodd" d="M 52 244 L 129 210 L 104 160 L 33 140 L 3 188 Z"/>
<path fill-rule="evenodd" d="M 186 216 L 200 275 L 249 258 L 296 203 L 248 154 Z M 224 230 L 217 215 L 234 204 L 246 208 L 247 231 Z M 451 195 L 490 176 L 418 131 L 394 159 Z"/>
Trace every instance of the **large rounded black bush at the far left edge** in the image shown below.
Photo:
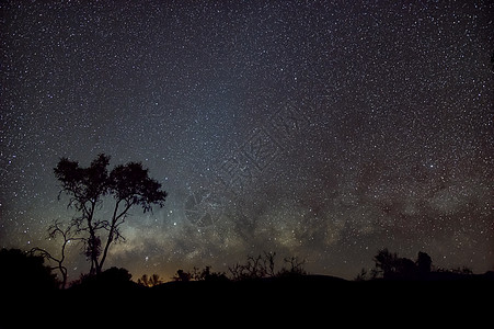
<path fill-rule="evenodd" d="M 42 256 L 20 249 L 0 250 L 0 291 L 55 290 L 58 282 Z"/>

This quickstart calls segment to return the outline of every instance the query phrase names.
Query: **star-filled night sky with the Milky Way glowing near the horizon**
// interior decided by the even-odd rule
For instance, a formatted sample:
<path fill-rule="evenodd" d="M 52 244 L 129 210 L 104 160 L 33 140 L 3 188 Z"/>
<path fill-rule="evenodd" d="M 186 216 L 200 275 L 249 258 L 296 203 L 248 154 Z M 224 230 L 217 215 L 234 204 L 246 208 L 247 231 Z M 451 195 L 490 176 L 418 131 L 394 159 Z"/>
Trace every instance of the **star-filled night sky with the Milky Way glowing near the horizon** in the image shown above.
<path fill-rule="evenodd" d="M 61 157 L 141 161 L 106 266 L 276 251 L 353 279 L 388 247 L 494 269 L 490 1 L 1 1 L 0 247 L 59 250 Z M 105 209 L 100 213 L 104 217 Z M 68 248 L 69 280 L 89 271 Z"/>

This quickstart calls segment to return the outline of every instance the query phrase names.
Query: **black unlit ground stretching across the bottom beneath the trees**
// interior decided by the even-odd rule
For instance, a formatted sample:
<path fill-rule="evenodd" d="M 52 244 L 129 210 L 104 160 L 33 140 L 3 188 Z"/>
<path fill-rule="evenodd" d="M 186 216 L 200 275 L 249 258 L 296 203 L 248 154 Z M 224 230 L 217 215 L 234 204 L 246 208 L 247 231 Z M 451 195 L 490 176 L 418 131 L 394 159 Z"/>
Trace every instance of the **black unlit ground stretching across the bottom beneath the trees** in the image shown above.
<path fill-rule="evenodd" d="M 65 291 L 11 290 L 0 328 L 468 327 L 491 317 L 493 273 L 424 281 L 346 281 L 325 275 L 252 281 L 128 281 Z M 468 321 L 468 322 L 464 322 Z M 480 324 L 480 322 L 479 322 Z M 340 326 L 338 326 L 340 327 Z"/>

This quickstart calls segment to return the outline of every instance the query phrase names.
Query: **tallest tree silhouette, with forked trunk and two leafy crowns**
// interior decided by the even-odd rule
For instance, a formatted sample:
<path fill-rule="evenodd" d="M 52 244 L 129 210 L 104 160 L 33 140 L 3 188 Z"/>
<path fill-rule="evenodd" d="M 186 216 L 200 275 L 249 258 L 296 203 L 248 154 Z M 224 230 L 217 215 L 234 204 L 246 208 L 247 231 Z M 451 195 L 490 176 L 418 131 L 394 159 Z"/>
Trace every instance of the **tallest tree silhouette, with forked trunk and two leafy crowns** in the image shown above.
<path fill-rule="evenodd" d="M 61 183 L 59 196 L 67 194 L 68 206 L 80 213 L 69 227 L 84 241 L 84 254 L 91 261 L 90 273 L 95 274 L 102 272 L 112 242 L 124 240 L 120 225 L 130 207 L 140 206 L 146 213 L 153 205 L 163 206 L 166 197 L 161 184 L 149 178 L 148 170 L 141 163 L 119 164 L 110 173 L 108 164 L 110 157 L 101 154 L 88 168 L 61 158 L 54 169 L 55 177 Z M 100 219 L 96 212 L 104 201 L 108 201 L 105 196 L 113 196 L 113 211 L 108 219 Z"/>

